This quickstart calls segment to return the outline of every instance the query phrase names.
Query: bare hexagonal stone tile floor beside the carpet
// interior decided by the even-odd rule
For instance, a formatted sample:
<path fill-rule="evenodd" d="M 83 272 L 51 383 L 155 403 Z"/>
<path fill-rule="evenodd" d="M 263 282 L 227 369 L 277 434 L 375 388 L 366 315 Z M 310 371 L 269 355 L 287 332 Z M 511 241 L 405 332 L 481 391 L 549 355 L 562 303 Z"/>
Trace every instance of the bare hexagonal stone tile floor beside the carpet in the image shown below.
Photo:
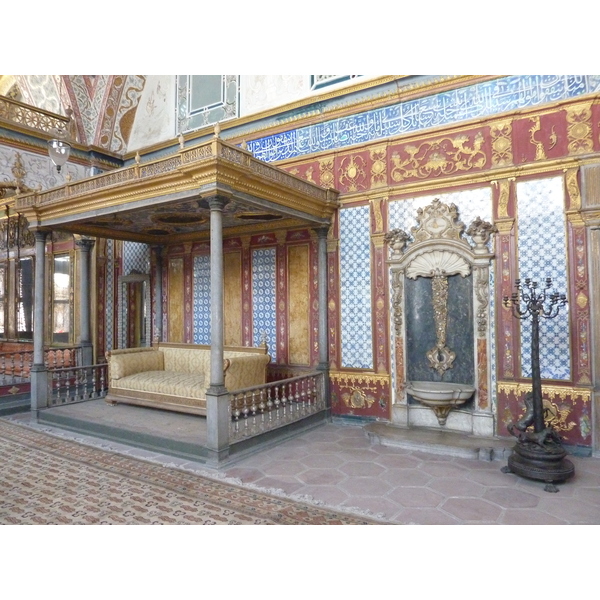
<path fill-rule="evenodd" d="M 24 417 L 21 417 L 23 420 Z M 44 426 L 44 429 L 48 427 Z M 220 472 L 183 459 L 60 432 L 118 452 L 192 469 L 397 524 L 600 524 L 600 458 L 570 456 L 575 476 L 544 484 L 486 462 L 372 444 L 360 426 L 334 422 Z"/>

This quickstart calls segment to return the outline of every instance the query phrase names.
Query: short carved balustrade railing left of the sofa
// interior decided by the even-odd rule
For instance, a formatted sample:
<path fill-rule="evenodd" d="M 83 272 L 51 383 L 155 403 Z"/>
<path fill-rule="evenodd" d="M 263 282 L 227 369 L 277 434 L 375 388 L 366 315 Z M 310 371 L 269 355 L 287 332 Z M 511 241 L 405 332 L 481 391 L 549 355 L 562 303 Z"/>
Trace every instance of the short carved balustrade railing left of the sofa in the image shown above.
<path fill-rule="evenodd" d="M 104 398 L 108 391 L 108 365 L 48 370 L 48 404 L 59 406 Z"/>

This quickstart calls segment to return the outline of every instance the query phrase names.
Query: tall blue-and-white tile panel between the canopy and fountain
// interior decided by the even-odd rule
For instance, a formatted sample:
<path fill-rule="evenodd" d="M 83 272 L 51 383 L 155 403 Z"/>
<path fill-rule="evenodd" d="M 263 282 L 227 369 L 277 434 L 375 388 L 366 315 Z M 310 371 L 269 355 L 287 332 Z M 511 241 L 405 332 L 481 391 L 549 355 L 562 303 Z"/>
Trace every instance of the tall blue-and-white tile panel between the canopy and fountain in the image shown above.
<path fill-rule="evenodd" d="M 340 211 L 341 366 L 373 368 L 369 207 Z"/>

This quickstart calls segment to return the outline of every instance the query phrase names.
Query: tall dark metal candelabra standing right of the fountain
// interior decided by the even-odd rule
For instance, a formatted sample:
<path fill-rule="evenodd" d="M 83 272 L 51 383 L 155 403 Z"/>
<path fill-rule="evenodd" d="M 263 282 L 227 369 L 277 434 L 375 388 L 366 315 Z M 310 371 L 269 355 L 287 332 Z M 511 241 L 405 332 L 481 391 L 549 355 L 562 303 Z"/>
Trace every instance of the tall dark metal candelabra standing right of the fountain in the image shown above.
<path fill-rule="evenodd" d="M 503 304 L 512 309 L 517 319 L 531 319 L 531 392 L 525 395 L 525 415 L 508 425 L 508 431 L 517 438 L 504 473 L 516 473 L 528 479 L 546 483 L 547 492 L 558 492 L 554 483 L 566 481 L 575 473 L 571 461 L 556 430 L 544 420 L 542 378 L 540 375 L 540 319 L 554 319 L 567 299 L 564 294 L 550 293 L 552 279 L 546 278 L 545 287 L 537 281 L 515 280 L 516 292 L 505 296 Z"/>

